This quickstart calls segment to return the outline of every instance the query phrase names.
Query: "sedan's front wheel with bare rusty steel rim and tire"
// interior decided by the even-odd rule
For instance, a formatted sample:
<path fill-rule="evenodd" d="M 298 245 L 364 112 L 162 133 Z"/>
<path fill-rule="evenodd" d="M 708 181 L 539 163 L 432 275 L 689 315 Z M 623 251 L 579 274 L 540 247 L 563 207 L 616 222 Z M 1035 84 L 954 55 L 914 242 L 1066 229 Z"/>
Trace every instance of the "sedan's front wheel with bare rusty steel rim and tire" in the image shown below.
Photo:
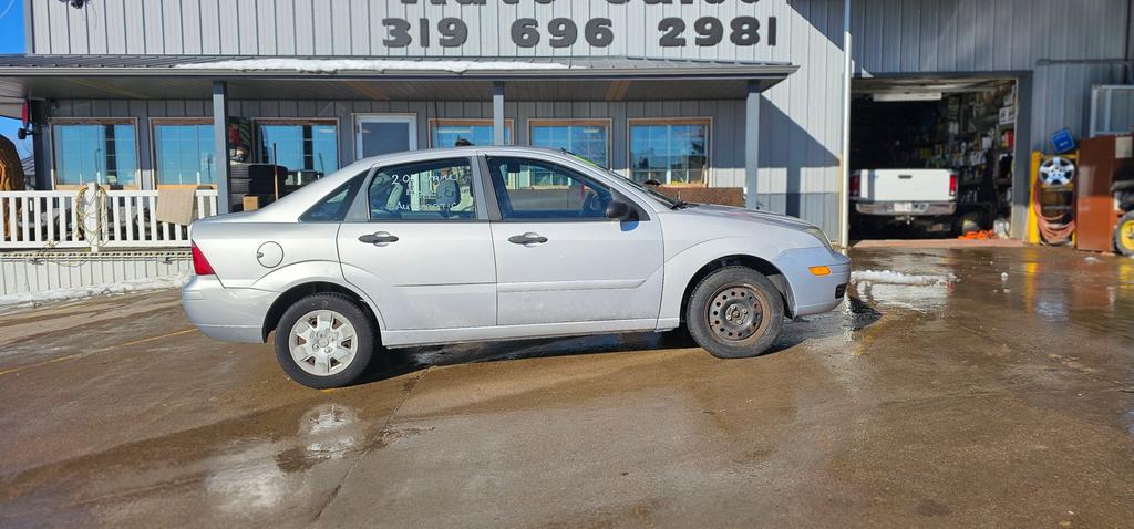
<path fill-rule="evenodd" d="M 685 325 L 693 340 L 717 358 L 759 356 L 779 338 L 784 300 L 760 272 L 726 266 L 693 288 Z"/>

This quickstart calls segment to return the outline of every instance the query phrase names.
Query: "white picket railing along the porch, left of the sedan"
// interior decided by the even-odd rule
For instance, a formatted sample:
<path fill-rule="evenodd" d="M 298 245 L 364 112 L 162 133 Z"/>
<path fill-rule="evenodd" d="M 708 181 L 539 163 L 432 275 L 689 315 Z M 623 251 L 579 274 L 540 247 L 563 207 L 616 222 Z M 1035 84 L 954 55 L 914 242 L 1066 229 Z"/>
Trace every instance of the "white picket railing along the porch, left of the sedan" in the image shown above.
<path fill-rule="evenodd" d="M 78 204 L 78 207 L 76 207 Z M 111 190 L 84 207 L 79 191 L 0 191 L 0 249 L 189 246 L 188 227 L 158 222 L 156 190 Z M 217 191 L 196 191 L 197 219 L 217 214 Z M 84 219 L 81 219 L 81 215 Z"/>

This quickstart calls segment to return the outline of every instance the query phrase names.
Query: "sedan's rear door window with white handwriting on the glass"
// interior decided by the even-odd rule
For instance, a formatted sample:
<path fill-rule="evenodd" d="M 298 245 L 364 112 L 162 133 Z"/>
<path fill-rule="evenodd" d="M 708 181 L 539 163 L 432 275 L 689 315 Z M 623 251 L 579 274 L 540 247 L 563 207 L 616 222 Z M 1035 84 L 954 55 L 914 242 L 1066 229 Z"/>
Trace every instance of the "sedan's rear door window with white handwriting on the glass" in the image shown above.
<path fill-rule="evenodd" d="M 370 217 L 418 221 L 475 219 L 473 178 L 468 159 L 379 169 L 367 189 Z"/>

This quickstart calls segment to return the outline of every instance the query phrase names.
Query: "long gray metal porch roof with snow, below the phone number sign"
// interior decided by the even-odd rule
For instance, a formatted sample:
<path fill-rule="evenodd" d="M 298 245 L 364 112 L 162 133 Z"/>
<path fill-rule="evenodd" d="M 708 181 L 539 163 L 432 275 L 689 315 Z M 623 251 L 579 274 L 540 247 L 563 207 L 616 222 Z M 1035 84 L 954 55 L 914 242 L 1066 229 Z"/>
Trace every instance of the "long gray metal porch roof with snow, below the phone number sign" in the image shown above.
<path fill-rule="evenodd" d="M 295 68 L 218 67 L 234 61 L 339 61 L 386 63 L 379 69 L 310 71 Z M 458 65 L 471 63 L 471 68 Z M 502 66 L 500 66 L 502 65 Z M 525 67 L 525 65 L 527 65 Z M 549 65 L 560 68 L 548 68 Z M 195 66 L 200 66 L 195 67 Z M 435 68 L 431 68 L 435 66 Z M 499 66 L 499 67 L 497 67 Z M 0 54 L 5 76 L 175 76 L 336 78 L 752 78 L 782 79 L 798 67 L 785 62 L 719 61 L 641 57 L 254 57 L 254 56 L 43 56 Z M 455 69 L 459 71 L 455 71 Z"/>

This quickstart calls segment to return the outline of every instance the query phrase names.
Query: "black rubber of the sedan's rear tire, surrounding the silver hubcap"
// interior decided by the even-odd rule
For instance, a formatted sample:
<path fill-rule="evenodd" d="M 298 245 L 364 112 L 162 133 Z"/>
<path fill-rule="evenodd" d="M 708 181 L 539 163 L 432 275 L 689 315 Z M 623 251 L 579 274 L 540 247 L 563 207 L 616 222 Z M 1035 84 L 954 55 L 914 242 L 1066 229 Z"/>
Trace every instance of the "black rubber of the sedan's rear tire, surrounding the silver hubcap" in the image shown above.
<path fill-rule="evenodd" d="M 329 375 L 308 373 L 291 355 L 291 331 L 299 318 L 318 310 L 341 315 L 354 327 L 357 340 L 353 359 L 345 367 Z M 328 339 L 329 340 L 329 339 Z M 301 344 L 302 345 L 302 344 Z M 307 387 L 324 390 L 341 387 L 356 381 L 366 370 L 374 352 L 374 324 L 366 313 L 350 298 L 336 292 L 307 296 L 293 304 L 280 317 L 276 327 L 276 359 L 293 381 Z M 330 365 L 330 361 L 328 361 Z M 337 367 L 337 366 L 336 366 Z"/>

